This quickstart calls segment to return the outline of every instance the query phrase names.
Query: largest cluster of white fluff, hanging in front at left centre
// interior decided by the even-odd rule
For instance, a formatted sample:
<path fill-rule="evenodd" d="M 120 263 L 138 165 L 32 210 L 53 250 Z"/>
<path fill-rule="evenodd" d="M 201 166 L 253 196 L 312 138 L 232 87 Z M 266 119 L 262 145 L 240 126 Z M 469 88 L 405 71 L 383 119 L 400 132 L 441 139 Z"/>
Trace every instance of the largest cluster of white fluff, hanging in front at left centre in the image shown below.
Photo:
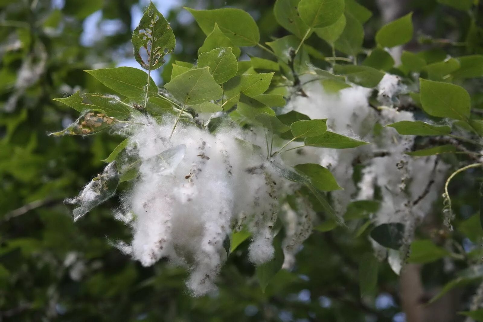
<path fill-rule="evenodd" d="M 141 161 L 140 176 L 116 215 L 132 227 L 133 239 L 117 246 L 145 266 L 167 258 L 187 267 L 186 284 L 195 295 L 215 288 L 226 258 L 223 244 L 232 230 L 252 233 L 252 263 L 269 261 L 279 198 L 297 185 L 283 179 L 274 160 L 267 161 L 248 143 L 265 144 L 258 142 L 264 136 L 233 126 L 211 134 L 178 124 L 169 139 L 171 118 L 156 123 L 143 117 L 136 123 L 123 132 L 129 138 L 128 156 Z M 288 234 L 291 248 L 301 243 L 297 234 L 300 228 Z"/>

